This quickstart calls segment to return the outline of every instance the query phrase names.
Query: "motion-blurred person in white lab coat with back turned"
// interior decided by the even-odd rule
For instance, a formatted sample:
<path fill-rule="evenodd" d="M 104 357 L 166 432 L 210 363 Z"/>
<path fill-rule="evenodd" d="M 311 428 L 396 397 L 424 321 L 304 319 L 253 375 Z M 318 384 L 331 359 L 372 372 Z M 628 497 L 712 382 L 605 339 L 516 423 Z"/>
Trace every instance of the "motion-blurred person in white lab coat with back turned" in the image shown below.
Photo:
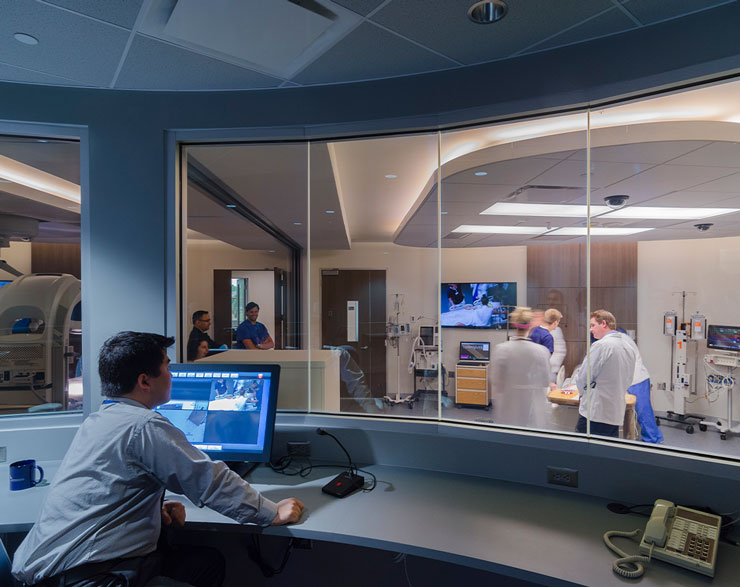
<path fill-rule="evenodd" d="M 517 308 L 509 320 L 516 335 L 496 345 L 491 358 L 493 420 L 498 424 L 545 428 L 550 353 L 527 337 L 532 310 Z"/>

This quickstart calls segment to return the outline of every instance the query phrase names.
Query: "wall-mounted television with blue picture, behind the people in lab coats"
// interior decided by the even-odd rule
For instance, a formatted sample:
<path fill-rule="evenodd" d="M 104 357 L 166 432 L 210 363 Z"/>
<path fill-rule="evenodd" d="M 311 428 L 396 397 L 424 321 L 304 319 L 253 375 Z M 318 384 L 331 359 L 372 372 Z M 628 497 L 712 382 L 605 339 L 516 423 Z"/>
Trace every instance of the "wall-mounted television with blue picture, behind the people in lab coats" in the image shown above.
<path fill-rule="evenodd" d="M 442 319 L 446 328 L 506 328 L 516 306 L 516 283 L 443 283 Z"/>

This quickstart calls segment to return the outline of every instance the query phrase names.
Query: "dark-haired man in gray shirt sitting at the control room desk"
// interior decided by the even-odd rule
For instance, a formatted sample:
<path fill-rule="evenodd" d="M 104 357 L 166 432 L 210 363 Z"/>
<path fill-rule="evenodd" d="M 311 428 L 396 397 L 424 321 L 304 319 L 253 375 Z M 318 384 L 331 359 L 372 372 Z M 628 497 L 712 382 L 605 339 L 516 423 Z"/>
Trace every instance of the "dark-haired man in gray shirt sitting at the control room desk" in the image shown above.
<path fill-rule="evenodd" d="M 204 565 L 198 550 L 157 550 L 161 524 L 185 523 L 182 504 L 162 501 L 165 489 L 241 523 L 269 526 L 300 518 L 300 501 L 276 504 L 263 497 L 153 410 L 170 399 L 165 349 L 173 342 L 121 332 L 103 345 L 98 370 L 111 399 L 77 431 L 36 523 L 15 553 L 18 579 L 29 585 L 114 587 L 165 575 L 193 585 L 220 584 L 222 561 Z M 209 563 L 211 574 L 205 570 Z"/>

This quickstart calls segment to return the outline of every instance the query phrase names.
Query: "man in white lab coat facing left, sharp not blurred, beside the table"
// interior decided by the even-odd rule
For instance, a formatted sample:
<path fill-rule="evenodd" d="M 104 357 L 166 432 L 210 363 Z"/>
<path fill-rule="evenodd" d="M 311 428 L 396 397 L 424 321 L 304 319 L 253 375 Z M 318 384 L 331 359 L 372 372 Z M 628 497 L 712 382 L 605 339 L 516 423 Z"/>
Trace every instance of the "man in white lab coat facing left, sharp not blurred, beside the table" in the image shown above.
<path fill-rule="evenodd" d="M 591 312 L 591 381 L 588 368 L 582 365 L 576 377 L 581 403 L 578 406 L 576 432 L 586 432 L 591 419 L 591 434 L 619 436 L 627 403 L 624 394 L 632 385 L 637 360 L 634 349 L 617 331 L 617 320 L 611 312 Z"/>

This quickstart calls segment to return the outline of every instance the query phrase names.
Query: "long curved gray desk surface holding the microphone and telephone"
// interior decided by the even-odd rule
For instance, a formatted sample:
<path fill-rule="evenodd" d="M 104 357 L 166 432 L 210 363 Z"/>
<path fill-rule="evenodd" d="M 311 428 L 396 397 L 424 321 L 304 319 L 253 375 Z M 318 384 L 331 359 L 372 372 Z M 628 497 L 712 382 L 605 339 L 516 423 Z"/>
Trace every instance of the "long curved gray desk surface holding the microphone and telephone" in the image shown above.
<path fill-rule="evenodd" d="M 58 463 L 44 463 L 47 477 Z M 297 497 L 306 504 L 298 524 L 267 534 L 342 542 L 463 564 L 548 585 L 624 585 L 611 570 L 607 530 L 644 528 L 646 518 L 620 516 L 603 499 L 478 477 L 396 467 L 367 467 L 376 489 L 336 499 L 321 486 L 340 469 L 315 469 L 308 478 L 278 475 L 264 467 L 249 481 L 274 501 Z M 10 492 L 7 465 L 0 469 L 0 532 L 27 530 L 46 489 Z M 186 499 L 188 524 L 219 531 L 254 531 Z M 619 540 L 619 539 L 617 539 Z M 637 553 L 637 543 L 621 547 Z M 734 584 L 740 556 L 719 547 L 714 585 Z M 641 587 L 708 585 L 710 580 L 660 561 L 648 565 Z"/>

